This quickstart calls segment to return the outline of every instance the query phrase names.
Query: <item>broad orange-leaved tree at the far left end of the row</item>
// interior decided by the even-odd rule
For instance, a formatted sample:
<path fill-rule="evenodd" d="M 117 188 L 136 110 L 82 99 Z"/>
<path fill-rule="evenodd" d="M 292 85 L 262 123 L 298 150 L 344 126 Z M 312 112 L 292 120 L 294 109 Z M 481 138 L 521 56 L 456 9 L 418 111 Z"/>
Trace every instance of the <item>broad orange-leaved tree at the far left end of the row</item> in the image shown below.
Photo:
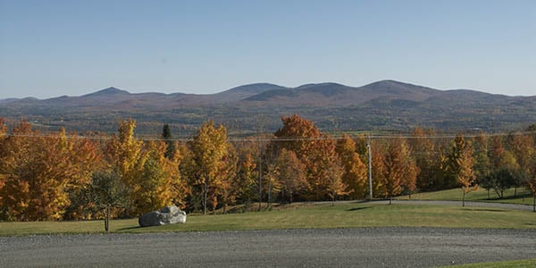
<path fill-rule="evenodd" d="M 90 180 L 98 163 L 88 140 L 68 138 L 65 130 L 41 134 L 23 121 L 2 143 L 0 173 L 3 205 L 19 221 L 61 220 L 69 190 Z"/>

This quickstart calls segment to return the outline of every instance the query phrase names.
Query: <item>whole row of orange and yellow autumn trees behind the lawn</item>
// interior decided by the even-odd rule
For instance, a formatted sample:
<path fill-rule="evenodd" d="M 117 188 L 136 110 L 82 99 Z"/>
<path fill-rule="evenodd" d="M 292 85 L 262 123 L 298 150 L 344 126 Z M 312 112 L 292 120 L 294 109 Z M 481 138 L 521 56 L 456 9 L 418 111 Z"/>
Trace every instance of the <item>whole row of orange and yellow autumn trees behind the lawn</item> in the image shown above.
<path fill-rule="evenodd" d="M 135 137 L 135 121 L 111 136 L 41 134 L 0 120 L 0 217 L 13 221 L 130 217 L 164 205 L 207 213 L 255 202 L 363 199 L 369 195 L 367 138 L 331 138 L 296 114 L 272 135 L 230 140 L 206 121 L 188 141 Z M 536 194 L 534 135 L 441 137 L 417 129 L 379 138 L 373 197 L 480 184 L 498 196 Z"/>

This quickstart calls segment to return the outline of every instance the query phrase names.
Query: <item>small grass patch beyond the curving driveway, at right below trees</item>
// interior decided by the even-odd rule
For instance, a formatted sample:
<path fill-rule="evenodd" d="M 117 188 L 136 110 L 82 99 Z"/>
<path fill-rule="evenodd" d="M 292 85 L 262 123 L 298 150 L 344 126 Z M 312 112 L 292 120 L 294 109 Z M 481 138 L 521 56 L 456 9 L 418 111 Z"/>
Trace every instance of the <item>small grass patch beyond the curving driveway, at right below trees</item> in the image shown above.
<path fill-rule="evenodd" d="M 530 192 L 525 188 L 517 188 L 517 193 L 514 196 L 515 189 L 509 188 L 504 192 L 503 198 L 498 198 L 495 191 L 490 190 L 490 198 L 488 198 L 488 191 L 484 188 L 479 188 L 476 191 L 470 192 L 465 195 L 467 201 L 482 201 L 482 202 L 495 202 L 495 203 L 509 203 L 509 204 L 521 204 L 532 205 L 532 196 Z M 400 200 L 409 199 L 408 196 L 398 197 Z M 414 200 L 462 200 L 462 189 L 452 188 L 448 190 L 442 190 L 437 192 L 418 193 L 411 196 Z"/>

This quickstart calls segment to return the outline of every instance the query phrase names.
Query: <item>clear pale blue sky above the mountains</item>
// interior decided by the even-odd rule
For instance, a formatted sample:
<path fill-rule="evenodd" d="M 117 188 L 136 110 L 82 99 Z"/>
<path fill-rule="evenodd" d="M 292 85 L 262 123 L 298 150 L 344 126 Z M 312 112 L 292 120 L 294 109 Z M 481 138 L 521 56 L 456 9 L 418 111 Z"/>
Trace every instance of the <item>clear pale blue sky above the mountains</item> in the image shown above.
<path fill-rule="evenodd" d="M 0 0 L 0 98 L 376 80 L 536 95 L 536 1 Z"/>

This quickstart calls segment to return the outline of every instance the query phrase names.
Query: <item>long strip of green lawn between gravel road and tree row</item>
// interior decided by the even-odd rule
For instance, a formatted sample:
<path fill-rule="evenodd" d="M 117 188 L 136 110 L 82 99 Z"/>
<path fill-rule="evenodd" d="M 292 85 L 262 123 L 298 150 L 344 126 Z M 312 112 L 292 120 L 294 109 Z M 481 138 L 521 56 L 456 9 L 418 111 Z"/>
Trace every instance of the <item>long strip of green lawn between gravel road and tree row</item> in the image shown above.
<path fill-rule="evenodd" d="M 270 230 L 354 227 L 536 229 L 536 214 L 498 208 L 345 203 L 274 207 L 245 214 L 188 215 L 185 224 L 139 228 L 138 220 L 111 222 L 113 232 Z M 0 236 L 103 232 L 102 221 L 0 222 Z"/>

